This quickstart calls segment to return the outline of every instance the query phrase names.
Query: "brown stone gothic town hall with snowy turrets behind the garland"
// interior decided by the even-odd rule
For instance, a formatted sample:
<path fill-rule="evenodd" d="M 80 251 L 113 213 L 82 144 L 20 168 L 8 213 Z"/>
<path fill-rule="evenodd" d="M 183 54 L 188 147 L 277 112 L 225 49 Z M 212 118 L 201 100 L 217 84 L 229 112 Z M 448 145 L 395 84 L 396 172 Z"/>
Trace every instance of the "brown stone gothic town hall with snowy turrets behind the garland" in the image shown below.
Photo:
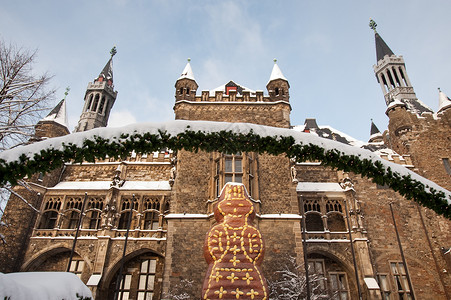
<path fill-rule="evenodd" d="M 451 100 L 439 91 L 437 112 L 424 105 L 403 57 L 377 32 L 375 40 L 374 72 L 389 125 L 381 133 L 371 124 L 366 143 L 318 126 L 315 119 L 292 126 L 290 84 L 277 63 L 265 92 L 233 81 L 199 92 L 188 62 L 175 82 L 175 119 L 304 131 L 366 148 L 451 190 Z M 112 59 L 88 84 L 75 132 L 107 126 L 117 97 Z M 33 141 L 67 134 L 62 100 L 36 125 Z M 270 288 L 286 262 L 295 261 L 300 273 L 308 265 L 311 284 L 332 299 L 451 299 L 451 221 L 391 189 L 315 161 L 161 149 L 122 161 L 66 163 L 25 181 L 27 188 L 15 190 L 40 212 L 11 196 L 3 215 L 9 226 L 1 228 L 7 243 L 0 245 L 0 271 L 69 269 L 95 299 L 113 299 L 115 293 L 119 299 L 182 299 L 183 293 L 183 299 L 201 299 L 207 271 L 202 249 L 227 182 L 244 184 L 252 199 Z"/>

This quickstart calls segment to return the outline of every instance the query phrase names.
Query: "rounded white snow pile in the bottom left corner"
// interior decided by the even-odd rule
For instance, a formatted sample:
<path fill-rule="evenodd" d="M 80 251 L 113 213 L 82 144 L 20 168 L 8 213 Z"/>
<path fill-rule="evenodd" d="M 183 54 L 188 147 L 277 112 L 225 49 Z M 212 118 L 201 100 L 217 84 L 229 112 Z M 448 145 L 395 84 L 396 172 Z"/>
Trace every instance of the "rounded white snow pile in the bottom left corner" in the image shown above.
<path fill-rule="evenodd" d="M 89 288 L 73 273 L 0 273 L 0 299 L 78 300 L 77 294 L 92 298 Z"/>

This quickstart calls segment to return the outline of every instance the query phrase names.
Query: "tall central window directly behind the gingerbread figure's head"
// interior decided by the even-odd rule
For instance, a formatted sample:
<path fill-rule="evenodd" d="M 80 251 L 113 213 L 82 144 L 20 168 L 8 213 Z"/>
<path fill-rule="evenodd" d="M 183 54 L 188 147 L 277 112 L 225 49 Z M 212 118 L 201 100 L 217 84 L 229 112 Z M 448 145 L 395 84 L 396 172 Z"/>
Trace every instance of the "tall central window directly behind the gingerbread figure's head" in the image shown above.
<path fill-rule="evenodd" d="M 233 155 L 212 154 L 212 198 L 219 196 L 222 187 L 228 182 L 243 183 L 249 196 L 258 199 L 257 155 L 255 153 L 236 153 Z"/>

